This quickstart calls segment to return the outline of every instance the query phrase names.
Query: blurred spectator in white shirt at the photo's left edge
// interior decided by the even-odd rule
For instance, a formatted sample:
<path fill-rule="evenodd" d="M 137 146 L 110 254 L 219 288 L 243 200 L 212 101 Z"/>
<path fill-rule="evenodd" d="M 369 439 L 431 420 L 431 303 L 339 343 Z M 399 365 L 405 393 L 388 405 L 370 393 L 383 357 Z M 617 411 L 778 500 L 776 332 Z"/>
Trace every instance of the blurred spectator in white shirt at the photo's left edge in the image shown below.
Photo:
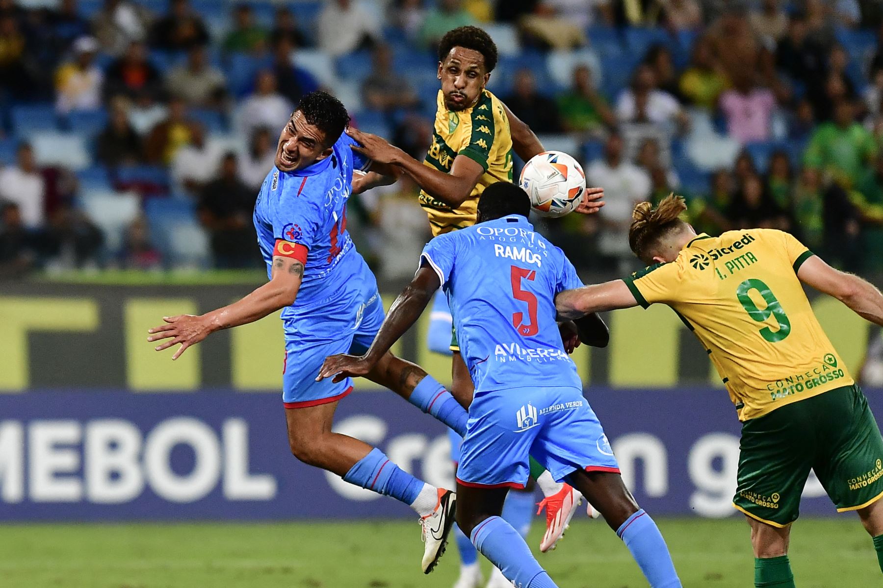
<path fill-rule="evenodd" d="M 0 199 L 19 206 L 22 224 L 27 229 L 45 226 L 46 182 L 30 144 L 19 145 L 14 166 L 0 169 Z"/>

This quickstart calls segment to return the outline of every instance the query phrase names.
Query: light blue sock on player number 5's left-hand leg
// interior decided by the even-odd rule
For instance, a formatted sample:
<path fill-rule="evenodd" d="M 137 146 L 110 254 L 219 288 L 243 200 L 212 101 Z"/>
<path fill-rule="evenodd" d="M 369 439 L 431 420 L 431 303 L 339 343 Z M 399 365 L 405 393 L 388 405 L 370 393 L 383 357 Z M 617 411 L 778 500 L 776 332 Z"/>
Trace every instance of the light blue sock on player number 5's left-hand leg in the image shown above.
<path fill-rule="evenodd" d="M 470 539 L 509 582 L 524 588 L 558 588 L 534 559 L 521 535 L 501 517 L 481 521 L 472 529 Z"/>

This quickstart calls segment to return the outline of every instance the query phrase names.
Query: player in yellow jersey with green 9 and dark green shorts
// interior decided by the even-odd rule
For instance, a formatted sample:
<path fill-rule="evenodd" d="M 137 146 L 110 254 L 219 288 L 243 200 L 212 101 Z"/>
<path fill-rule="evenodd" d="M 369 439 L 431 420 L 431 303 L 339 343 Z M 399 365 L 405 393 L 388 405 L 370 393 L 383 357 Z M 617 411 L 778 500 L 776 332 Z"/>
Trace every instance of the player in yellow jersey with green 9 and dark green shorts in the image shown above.
<path fill-rule="evenodd" d="M 793 588 L 791 524 L 810 470 L 837 510 L 856 510 L 883 570 L 883 440 L 803 284 L 883 325 L 883 295 L 773 229 L 696 234 L 683 198 L 635 208 L 629 242 L 647 269 L 559 294 L 564 316 L 668 304 L 706 348 L 742 421 L 736 497 L 754 585 Z"/>

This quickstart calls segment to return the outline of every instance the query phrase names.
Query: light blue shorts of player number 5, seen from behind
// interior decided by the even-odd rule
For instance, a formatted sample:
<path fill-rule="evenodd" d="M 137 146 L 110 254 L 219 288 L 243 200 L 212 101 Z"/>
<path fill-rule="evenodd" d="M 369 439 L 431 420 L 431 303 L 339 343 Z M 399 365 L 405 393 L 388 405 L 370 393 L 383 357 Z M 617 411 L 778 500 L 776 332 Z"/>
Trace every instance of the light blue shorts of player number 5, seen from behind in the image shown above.
<path fill-rule="evenodd" d="M 619 473 L 607 435 L 571 387 L 477 392 L 460 446 L 457 481 L 475 488 L 525 488 L 529 457 L 562 481 L 577 469 Z"/>

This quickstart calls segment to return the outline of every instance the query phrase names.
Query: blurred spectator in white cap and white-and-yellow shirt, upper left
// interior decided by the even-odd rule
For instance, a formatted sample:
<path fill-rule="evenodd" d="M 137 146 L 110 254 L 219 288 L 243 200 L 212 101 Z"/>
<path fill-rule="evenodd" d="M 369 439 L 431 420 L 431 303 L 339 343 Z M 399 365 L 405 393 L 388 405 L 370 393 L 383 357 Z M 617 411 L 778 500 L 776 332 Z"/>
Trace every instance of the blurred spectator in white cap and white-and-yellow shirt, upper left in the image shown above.
<path fill-rule="evenodd" d="M 67 114 L 72 110 L 96 110 L 102 106 L 104 74 L 95 65 L 98 41 L 80 37 L 73 43 L 75 60 L 64 63 L 56 71 L 56 110 Z"/>

